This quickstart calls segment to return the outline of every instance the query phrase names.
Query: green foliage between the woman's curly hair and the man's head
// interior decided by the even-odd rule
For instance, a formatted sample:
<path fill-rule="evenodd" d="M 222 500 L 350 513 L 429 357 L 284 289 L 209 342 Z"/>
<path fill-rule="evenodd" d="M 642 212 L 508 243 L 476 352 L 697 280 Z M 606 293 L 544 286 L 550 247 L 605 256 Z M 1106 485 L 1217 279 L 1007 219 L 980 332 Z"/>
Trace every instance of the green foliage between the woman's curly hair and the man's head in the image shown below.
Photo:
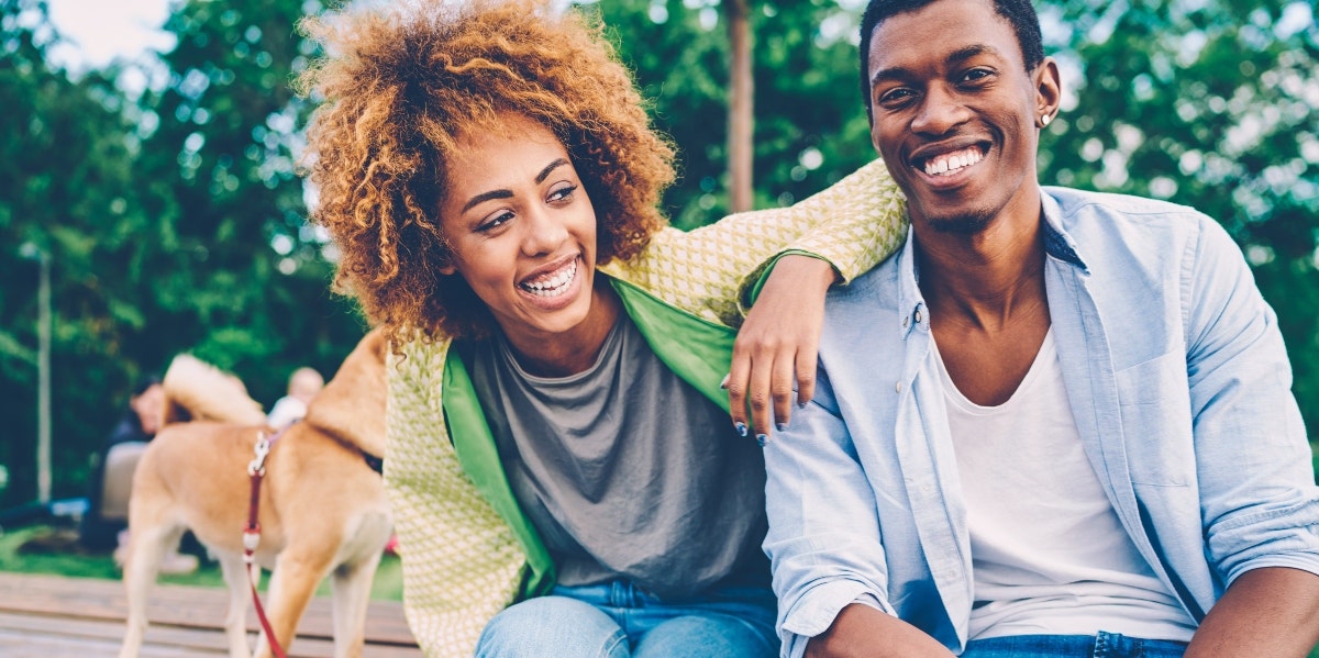
<path fill-rule="evenodd" d="M 679 146 L 681 179 L 665 198 L 691 228 L 727 212 L 728 40 L 714 0 L 592 5 Z M 873 160 L 857 113 L 855 12 L 834 1 L 752 1 L 757 206 L 802 199 Z M 822 29 L 827 25 L 828 29 Z"/>

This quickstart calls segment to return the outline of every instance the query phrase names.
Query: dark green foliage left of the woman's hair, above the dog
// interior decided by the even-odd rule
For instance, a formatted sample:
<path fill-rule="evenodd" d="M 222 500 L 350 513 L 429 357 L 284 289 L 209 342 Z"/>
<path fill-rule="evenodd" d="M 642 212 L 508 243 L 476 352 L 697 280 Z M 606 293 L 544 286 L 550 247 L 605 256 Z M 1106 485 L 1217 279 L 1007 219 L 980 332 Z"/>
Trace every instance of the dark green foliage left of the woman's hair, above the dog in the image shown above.
<path fill-rule="evenodd" d="M 265 405 L 288 374 L 331 376 L 364 332 L 328 291 L 332 266 L 306 222 L 294 173 L 303 107 L 288 80 L 314 50 L 295 36 L 302 0 L 191 1 L 158 63 L 70 78 L 36 0 L 0 5 L 0 410 L 13 439 L 5 504 L 36 492 L 36 262 L 54 298 L 54 494 L 84 493 L 88 455 L 144 373 L 179 352 L 239 374 Z M 154 67 L 153 67 L 154 66 Z M 157 70 L 158 69 L 158 70 Z M 137 96 L 121 75 L 164 79 Z"/>

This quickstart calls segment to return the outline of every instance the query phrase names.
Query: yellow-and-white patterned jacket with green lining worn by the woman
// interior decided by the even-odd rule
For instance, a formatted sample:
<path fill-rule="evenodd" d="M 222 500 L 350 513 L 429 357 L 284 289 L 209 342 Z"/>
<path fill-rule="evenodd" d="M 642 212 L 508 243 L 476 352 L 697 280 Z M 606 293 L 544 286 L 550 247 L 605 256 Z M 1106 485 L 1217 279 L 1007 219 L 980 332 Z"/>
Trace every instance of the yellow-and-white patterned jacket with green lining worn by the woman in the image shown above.
<path fill-rule="evenodd" d="M 901 193 L 874 161 L 787 208 L 665 228 L 601 272 L 657 356 L 727 409 L 732 327 L 778 256 L 826 258 L 851 281 L 905 236 Z M 447 340 L 415 342 L 389 359 L 385 487 L 413 634 L 427 655 L 466 657 L 496 613 L 554 584 L 554 564 L 513 497 L 467 369 L 447 355 Z"/>

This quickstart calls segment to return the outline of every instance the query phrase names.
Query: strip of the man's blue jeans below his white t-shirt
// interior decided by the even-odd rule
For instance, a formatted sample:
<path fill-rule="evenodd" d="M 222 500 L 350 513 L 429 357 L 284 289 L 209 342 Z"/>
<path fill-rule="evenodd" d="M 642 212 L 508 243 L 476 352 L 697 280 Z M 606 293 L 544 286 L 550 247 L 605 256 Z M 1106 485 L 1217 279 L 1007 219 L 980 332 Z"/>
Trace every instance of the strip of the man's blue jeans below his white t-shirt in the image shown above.
<path fill-rule="evenodd" d="M 962 658 L 1182 658 L 1186 642 L 1097 636 L 1009 636 L 967 642 Z"/>

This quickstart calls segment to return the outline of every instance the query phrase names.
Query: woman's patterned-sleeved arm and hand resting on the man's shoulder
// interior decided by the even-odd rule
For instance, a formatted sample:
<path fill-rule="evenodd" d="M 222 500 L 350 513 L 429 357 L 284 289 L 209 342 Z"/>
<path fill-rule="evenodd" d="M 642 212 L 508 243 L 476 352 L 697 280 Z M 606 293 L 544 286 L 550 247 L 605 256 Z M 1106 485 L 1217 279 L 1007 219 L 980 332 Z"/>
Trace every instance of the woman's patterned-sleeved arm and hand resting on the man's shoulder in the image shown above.
<path fill-rule="evenodd" d="M 745 426 L 754 415 L 754 433 L 768 436 L 776 411 L 778 422 L 789 419 L 794 381 L 811 390 L 810 371 L 798 365 L 809 361 L 814 369 L 828 284 L 845 284 L 884 261 L 906 227 L 902 194 L 877 160 L 791 207 L 740 212 L 690 232 L 665 229 L 641 254 L 601 272 L 706 319 L 743 327 L 747 336 L 737 339 L 727 382 L 737 398 L 729 402 L 736 422 Z M 789 253 L 823 262 L 795 262 L 782 276 L 765 277 Z M 765 309 L 751 314 L 748 302 L 758 294 L 769 295 Z M 748 401 L 760 401 L 761 411 L 748 414 Z"/>

